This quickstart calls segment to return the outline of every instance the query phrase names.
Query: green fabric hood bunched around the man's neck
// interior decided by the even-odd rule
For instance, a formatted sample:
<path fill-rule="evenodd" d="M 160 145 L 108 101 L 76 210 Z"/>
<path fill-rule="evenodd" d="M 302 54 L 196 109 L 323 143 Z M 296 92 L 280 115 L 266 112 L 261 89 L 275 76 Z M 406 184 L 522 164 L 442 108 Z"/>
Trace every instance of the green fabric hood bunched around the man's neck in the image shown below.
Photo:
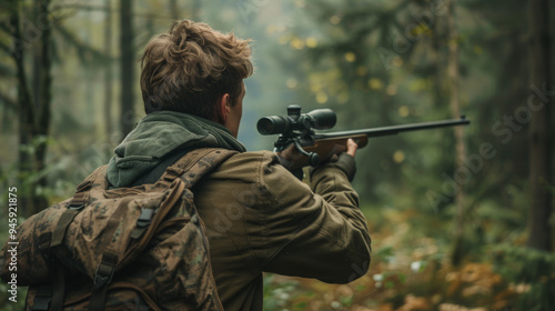
<path fill-rule="evenodd" d="M 114 150 L 108 181 L 127 187 L 176 150 L 224 148 L 246 151 L 223 126 L 192 114 L 158 111 L 144 117 Z"/>

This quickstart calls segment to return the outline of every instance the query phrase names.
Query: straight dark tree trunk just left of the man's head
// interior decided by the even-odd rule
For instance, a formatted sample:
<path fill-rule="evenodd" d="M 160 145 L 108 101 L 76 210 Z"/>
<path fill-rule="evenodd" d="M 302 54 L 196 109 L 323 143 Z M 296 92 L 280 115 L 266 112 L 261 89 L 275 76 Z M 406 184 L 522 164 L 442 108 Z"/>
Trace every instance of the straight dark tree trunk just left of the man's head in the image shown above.
<path fill-rule="evenodd" d="M 121 124 L 127 136 L 134 126 L 134 66 L 137 59 L 133 49 L 133 2 L 121 0 L 120 8 L 120 48 L 121 48 Z"/>

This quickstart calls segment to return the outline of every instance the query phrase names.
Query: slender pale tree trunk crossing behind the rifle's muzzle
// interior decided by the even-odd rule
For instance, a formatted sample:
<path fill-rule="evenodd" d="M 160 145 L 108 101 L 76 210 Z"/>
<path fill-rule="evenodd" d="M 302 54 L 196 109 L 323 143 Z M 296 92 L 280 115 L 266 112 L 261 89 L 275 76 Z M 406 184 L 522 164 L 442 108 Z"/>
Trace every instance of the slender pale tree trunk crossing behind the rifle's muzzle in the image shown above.
<path fill-rule="evenodd" d="M 461 116 L 461 109 L 458 103 L 458 31 L 455 24 L 455 6 L 454 0 L 447 1 L 447 78 L 448 78 L 448 98 L 450 107 L 453 118 L 458 118 Z M 466 157 L 466 146 L 464 142 L 464 129 L 463 127 L 455 127 L 455 180 L 465 180 L 467 175 L 464 168 L 464 160 Z M 461 174 L 461 175 L 457 175 Z M 455 207 L 456 207 L 456 218 L 455 218 L 455 244 L 452 254 L 452 263 L 457 265 L 463 259 L 463 233 L 464 233 L 464 184 L 458 184 L 458 191 L 455 192 Z"/>

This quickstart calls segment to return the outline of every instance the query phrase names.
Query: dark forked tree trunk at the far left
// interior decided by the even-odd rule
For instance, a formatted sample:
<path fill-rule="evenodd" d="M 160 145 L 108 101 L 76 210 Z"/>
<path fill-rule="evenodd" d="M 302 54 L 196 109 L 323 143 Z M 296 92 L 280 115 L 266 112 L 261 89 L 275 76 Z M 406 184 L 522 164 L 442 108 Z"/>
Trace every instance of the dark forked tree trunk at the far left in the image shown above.
<path fill-rule="evenodd" d="M 26 215 L 33 214 L 47 205 L 47 199 L 39 193 L 39 189 L 47 183 L 40 172 L 46 167 L 46 138 L 50 131 L 52 84 L 50 34 L 53 20 L 49 7 L 50 0 L 34 1 L 30 10 L 31 19 L 26 18 L 23 29 L 21 18 L 23 3 L 10 1 L 9 28 L 4 29 L 13 38 L 11 56 L 16 64 L 19 108 L 18 170 L 20 183 L 28 185 L 20 194 Z M 29 80 L 24 62 L 28 51 L 32 53 L 33 60 L 32 80 Z M 32 88 L 29 88 L 30 81 Z"/>

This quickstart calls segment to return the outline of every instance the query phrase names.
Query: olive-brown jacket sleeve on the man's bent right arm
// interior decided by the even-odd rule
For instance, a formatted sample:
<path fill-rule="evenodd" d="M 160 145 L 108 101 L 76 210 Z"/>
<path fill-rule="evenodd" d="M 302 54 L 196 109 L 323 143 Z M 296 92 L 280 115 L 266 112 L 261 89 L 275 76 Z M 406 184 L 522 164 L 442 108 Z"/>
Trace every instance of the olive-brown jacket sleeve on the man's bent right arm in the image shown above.
<path fill-rule="evenodd" d="M 269 204 L 259 211 L 264 227 L 259 237 L 265 237 L 259 242 L 265 249 L 255 250 L 263 271 L 330 283 L 351 282 L 366 273 L 371 239 L 349 182 L 354 159 L 344 156 L 312 173 L 312 189 L 276 158 L 263 164 L 261 185 Z"/>

